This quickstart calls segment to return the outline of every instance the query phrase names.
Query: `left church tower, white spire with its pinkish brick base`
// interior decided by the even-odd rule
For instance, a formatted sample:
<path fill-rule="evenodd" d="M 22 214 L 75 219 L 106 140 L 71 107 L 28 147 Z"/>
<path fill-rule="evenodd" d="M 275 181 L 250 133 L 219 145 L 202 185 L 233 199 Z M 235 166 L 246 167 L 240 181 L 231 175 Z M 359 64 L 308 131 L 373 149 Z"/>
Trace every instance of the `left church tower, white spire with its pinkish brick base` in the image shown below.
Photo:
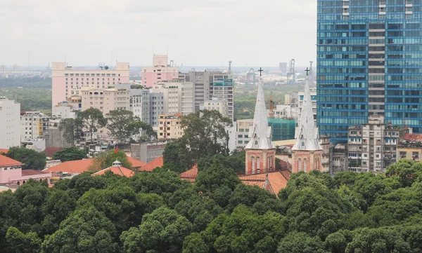
<path fill-rule="evenodd" d="M 275 171 L 276 167 L 276 149 L 271 142 L 271 127 L 268 126 L 262 83 L 261 77 L 258 83 L 253 124 L 249 129 L 250 140 L 245 146 L 246 175 Z"/>

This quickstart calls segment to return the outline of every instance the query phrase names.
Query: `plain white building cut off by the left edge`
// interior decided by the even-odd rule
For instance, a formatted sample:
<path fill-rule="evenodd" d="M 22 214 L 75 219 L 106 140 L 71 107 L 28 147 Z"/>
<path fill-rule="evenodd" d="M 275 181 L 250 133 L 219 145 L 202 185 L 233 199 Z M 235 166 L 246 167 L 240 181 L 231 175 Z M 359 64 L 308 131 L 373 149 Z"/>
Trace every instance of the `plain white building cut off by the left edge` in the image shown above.
<path fill-rule="evenodd" d="M 0 149 L 20 146 L 20 104 L 0 97 Z"/>

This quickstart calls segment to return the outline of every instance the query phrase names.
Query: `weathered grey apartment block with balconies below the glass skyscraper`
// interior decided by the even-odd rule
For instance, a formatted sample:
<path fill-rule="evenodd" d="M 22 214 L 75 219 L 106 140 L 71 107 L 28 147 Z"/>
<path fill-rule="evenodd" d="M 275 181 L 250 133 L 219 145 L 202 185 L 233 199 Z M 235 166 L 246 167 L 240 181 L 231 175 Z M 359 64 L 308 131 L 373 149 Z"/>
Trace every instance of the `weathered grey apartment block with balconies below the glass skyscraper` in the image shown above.
<path fill-rule="evenodd" d="M 385 172 L 397 160 L 399 138 L 411 128 L 385 125 L 381 115 L 369 116 L 366 124 L 350 127 L 347 135 L 349 169 L 354 172 Z"/>

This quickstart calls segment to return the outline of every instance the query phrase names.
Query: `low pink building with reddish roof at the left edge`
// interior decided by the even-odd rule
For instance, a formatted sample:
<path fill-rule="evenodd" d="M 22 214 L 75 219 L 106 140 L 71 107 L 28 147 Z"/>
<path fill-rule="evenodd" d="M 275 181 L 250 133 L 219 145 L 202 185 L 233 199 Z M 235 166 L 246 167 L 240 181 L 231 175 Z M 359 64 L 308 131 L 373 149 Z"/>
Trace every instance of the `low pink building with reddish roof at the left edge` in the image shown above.
<path fill-rule="evenodd" d="M 22 170 L 23 163 L 0 155 L 0 184 L 25 184 L 28 179 L 43 181 L 50 184 L 51 173 L 38 170 Z"/>

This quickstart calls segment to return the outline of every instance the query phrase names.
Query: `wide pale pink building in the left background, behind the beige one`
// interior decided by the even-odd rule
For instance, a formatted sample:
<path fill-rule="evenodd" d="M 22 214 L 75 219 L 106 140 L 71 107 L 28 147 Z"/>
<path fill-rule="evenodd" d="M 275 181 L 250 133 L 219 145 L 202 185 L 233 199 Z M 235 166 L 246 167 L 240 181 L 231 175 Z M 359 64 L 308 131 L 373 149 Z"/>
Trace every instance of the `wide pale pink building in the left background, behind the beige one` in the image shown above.
<path fill-rule="evenodd" d="M 72 95 L 80 95 L 82 88 L 113 88 L 116 83 L 129 83 L 129 62 L 98 69 L 78 69 L 66 62 L 53 62 L 51 78 L 54 106 Z"/>

